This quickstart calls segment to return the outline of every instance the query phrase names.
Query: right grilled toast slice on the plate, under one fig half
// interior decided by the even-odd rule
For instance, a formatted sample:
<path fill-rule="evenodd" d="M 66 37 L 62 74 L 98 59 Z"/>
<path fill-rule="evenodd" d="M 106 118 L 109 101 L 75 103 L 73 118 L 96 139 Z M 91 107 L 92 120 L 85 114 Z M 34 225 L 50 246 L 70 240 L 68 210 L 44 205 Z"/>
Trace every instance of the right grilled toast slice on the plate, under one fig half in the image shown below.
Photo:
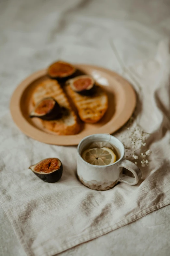
<path fill-rule="evenodd" d="M 80 119 L 86 123 L 97 123 L 108 108 L 108 97 L 105 90 L 98 85 L 95 90 L 95 94 L 84 96 L 73 91 L 70 85 L 65 86 L 65 92 L 72 98 Z"/>

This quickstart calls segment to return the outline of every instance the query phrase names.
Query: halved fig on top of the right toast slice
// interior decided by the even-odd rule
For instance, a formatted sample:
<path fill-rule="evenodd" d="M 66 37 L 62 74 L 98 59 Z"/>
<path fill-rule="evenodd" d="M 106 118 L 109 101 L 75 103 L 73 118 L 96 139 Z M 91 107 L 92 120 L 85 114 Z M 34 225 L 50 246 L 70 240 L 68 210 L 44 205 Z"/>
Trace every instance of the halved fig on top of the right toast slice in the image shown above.
<path fill-rule="evenodd" d="M 82 95 L 91 95 L 95 91 L 94 80 L 91 76 L 83 75 L 69 79 L 67 84 L 73 91 Z"/>

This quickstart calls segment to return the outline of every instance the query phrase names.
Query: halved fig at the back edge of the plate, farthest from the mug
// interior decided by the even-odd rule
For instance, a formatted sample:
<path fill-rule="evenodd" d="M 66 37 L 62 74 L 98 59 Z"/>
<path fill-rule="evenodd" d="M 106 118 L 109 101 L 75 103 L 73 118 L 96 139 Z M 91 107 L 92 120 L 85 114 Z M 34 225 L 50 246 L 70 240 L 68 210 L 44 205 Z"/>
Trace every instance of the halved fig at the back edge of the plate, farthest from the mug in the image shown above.
<path fill-rule="evenodd" d="M 64 61 L 57 61 L 50 65 L 47 74 L 52 79 L 65 80 L 72 76 L 76 68 Z"/>

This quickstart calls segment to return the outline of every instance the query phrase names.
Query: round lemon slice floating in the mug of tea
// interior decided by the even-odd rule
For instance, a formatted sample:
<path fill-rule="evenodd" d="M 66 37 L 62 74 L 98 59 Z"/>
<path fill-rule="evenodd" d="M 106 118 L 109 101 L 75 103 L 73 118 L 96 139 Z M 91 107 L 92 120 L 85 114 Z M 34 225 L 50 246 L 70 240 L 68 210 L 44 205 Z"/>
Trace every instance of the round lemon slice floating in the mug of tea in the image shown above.
<path fill-rule="evenodd" d="M 94 165 L 108 165 L 116 162 L 115 153 L 108 147 L 88 148 L 83 152 L 82 158 Z"/>

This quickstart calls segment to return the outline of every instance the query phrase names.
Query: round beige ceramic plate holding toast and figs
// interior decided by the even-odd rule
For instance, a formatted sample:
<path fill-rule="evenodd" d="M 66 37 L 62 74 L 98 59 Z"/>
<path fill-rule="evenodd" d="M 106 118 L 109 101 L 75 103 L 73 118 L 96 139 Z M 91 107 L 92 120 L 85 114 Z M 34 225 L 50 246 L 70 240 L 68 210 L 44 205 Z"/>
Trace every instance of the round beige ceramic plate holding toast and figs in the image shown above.
<path fill-rule="evenodd" d="M 45 130 L 38 118 L 29 118 L 29 113 L 33 109 L 31 94 L 40 82 L 47 79 L 47 70 L 44 69 L 26 78 L 12 95 L 11 115 L 22 132 L 35 140 L 48 144 L 78 145 L 85 136 L 94 133 L 111 134 L 128 121 L 136 104 L 136 95 L 129 82 L 118 74 L 101 67 L 84 64 L 76 65 L 76 67 L 94 77 L 106 89 L 109 104 L 104 117 L 97 124 L 85 124 L 83 130 L 76 135 L 65 136 Z"/>

